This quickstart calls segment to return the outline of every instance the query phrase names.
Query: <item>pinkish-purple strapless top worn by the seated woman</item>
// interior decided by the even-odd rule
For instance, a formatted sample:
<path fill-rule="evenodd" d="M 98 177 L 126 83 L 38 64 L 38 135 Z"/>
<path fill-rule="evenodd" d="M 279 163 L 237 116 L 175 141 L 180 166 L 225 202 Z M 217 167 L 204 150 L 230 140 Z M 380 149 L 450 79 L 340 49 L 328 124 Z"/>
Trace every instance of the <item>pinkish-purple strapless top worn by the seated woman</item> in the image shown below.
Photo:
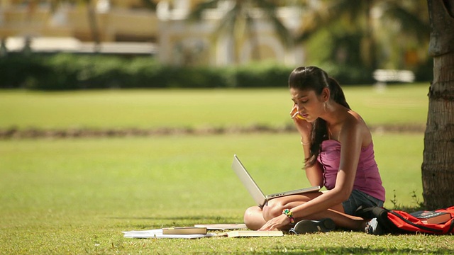
<path fill-rule="evenodd" d="M 341 143 L 336 140 L 323 141 L 318 160 L 324 169 L 324 186 L 328 190 L 331 190 L 336 185 L 336 177 L 341 162 Z M 384 201 L 384 188 L 380 173 L 378 172 L 377 162 L 375 162 L 374 145 L 372 142 L 369 146 L 361 149 L 353 189 Z"/>

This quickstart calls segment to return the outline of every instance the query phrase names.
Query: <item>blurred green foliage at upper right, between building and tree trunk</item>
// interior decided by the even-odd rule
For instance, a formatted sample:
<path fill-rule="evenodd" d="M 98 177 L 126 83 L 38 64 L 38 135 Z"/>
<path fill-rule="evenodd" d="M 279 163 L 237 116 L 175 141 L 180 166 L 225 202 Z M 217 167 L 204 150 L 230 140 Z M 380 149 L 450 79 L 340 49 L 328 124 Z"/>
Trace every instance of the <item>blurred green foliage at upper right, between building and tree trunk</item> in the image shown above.
<path fill-rule="evenodd" d="M 425 0 L 299 1 L 304 20 L 297 42 L 307 62 L 326 69 L 409 69 L 431 79 Z M 336 77 L 336 75 L 333 75 Z"/>

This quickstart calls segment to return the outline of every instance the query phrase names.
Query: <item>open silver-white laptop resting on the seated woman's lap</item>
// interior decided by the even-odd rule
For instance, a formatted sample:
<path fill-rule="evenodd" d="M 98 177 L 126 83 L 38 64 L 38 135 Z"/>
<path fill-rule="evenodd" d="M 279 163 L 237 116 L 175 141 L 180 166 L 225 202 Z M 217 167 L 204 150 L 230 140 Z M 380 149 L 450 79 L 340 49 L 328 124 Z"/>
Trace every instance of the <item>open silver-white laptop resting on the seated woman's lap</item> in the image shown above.
<path fill-rule="evenodd" d="M 240 179 L 240 181 L 243 183 L 245 188 L 248 190 L 250 193 L 250 196 L 253 197 L 255 200 L 255 203 L 257 203 L 258 206 L 263 207 L 267 203 L 268 200 L 272 198 L 279 198 L 282 196 L 289 196 L 289 195 L 295 195 L 295 194 L 302 194 L 302 193 L 309 193 L 309 192 L 315 192 L 315 191 L 320 191 L 320 186 L 314 186 L 310 188 L 300 188 L 294 191 L 285 191 L 285 192 L 279 192 L 279 193 L 274 193 L 265 196 L 263 194 L 262 190 L 258 187 L 257 183 L 255 183 L 254 179 L 248 171 L 245 169 L 243 164 L 240 162 L 240 159 L 236 155 L 233 155 L 233 163 L 232 163 L 232 169 L 235 171 L 236 175 Z"/>

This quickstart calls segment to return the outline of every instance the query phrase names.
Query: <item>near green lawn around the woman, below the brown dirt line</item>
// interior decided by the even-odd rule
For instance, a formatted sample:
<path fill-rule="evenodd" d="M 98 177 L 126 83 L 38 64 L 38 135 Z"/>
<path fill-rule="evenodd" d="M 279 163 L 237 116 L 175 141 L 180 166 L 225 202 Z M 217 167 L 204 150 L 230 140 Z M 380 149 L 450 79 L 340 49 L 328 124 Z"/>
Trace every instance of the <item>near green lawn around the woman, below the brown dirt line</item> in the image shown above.
<path fill-rule="evenodd" d="M 0 254 L 453 251 L 453 236 L 374 237 L 342 231 L 253 239 L 123 238 L 125 230 L 241 222 L 253 201 L 230 168 L 234 153 L 267 193 L 308 185 L 295 136 L 4 140 Z M 414 142 L 421 139 L 375 134 L 388 199 L 395 190 L 399 203 L 414 206 L 412 191 L 421 196 L 421 157 L 416 152 L 422 145 Z M 408 161 L 402 164 L 402 159 Z M 389 201 L 386 205 L 393 206 Z"/>

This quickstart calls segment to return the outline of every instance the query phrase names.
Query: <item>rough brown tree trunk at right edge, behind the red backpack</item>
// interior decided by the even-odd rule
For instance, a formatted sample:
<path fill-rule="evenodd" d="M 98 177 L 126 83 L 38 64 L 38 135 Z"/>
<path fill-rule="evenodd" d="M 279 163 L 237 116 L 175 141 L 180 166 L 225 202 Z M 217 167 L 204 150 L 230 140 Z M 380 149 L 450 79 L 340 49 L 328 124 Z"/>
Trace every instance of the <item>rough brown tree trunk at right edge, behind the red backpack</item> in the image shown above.
<path fill-rule="evenodd" d="M 428 0 L 433 81 L 421 166 L 424 205 L 454 205 L 454 0 Z"/>

